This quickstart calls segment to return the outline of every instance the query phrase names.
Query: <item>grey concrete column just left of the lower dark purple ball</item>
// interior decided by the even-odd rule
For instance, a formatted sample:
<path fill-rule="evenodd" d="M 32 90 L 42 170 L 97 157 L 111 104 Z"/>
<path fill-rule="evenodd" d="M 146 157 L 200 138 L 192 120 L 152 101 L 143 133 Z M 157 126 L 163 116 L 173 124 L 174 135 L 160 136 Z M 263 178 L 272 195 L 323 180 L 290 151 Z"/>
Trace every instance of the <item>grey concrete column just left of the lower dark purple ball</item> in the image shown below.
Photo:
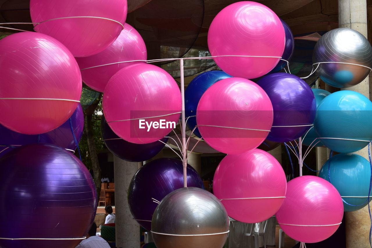
<path fill-rule="evenodd" d="M 116 247 L 140 247 L 140 225 L 128 206 L 128 187 L 138 164 L 114 156 Z"/>

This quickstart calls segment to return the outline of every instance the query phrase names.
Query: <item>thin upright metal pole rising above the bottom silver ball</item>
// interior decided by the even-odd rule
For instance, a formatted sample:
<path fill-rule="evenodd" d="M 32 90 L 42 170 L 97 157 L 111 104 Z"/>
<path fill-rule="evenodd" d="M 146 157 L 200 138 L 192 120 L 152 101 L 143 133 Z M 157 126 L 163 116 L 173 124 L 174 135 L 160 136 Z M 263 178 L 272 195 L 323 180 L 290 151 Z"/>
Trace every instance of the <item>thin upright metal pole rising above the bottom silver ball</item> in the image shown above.
<path fill-rule="evenodd" d="M 181 134 L 182 134 L 182 165 L 183 165 L 183 187 L 187 187 L 187 147 L 186 147 L 186 124 L 185 124 L 185 81 L 183 79 L 183 58 L 180 59 L 180 80 L 181 80 Z"/>

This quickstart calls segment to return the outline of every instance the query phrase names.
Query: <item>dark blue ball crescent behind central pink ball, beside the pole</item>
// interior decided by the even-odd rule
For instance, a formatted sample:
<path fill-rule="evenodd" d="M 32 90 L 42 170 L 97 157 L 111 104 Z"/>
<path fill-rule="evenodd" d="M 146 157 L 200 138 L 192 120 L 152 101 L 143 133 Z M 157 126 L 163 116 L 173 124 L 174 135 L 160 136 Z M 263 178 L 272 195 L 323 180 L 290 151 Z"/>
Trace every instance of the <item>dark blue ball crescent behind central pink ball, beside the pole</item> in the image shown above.
<path fill-rule="evenodd" d="M 229 77 L 231 76 L 224 71 L 212 70 L 199 74 L 189 83 L 185 90 L 185 117 L 189 117 L 186 124 L 190 130 L 196 126 L 196 108 L 204 92 L 214 83 Z M 199 138 L 202 137 L 198 128 L 195 129 L 194 134 Z"/>

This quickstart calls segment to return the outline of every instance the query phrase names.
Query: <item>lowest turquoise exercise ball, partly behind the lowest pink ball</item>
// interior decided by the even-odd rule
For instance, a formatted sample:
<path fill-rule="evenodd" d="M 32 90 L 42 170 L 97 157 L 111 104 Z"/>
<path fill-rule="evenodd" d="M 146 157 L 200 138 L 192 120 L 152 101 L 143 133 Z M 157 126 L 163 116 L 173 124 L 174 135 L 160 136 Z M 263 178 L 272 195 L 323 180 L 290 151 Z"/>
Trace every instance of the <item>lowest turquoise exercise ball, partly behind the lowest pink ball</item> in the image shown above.
<path fill-rule="evenodd" d="M 371 165 L 367 159 L 357 154 L 337 154 L 324 163 L 319 177 L 331 182 L 344 201 L 351 205 L 360 205 L 350 206 L 344 203 L 345 212 L 356 211 L 367 206 L 371 180 Z M 369 196 L 371 197 L 371 193 Z M 369 201 L 371 200 L 372 198 L 369 198 Z"/>

